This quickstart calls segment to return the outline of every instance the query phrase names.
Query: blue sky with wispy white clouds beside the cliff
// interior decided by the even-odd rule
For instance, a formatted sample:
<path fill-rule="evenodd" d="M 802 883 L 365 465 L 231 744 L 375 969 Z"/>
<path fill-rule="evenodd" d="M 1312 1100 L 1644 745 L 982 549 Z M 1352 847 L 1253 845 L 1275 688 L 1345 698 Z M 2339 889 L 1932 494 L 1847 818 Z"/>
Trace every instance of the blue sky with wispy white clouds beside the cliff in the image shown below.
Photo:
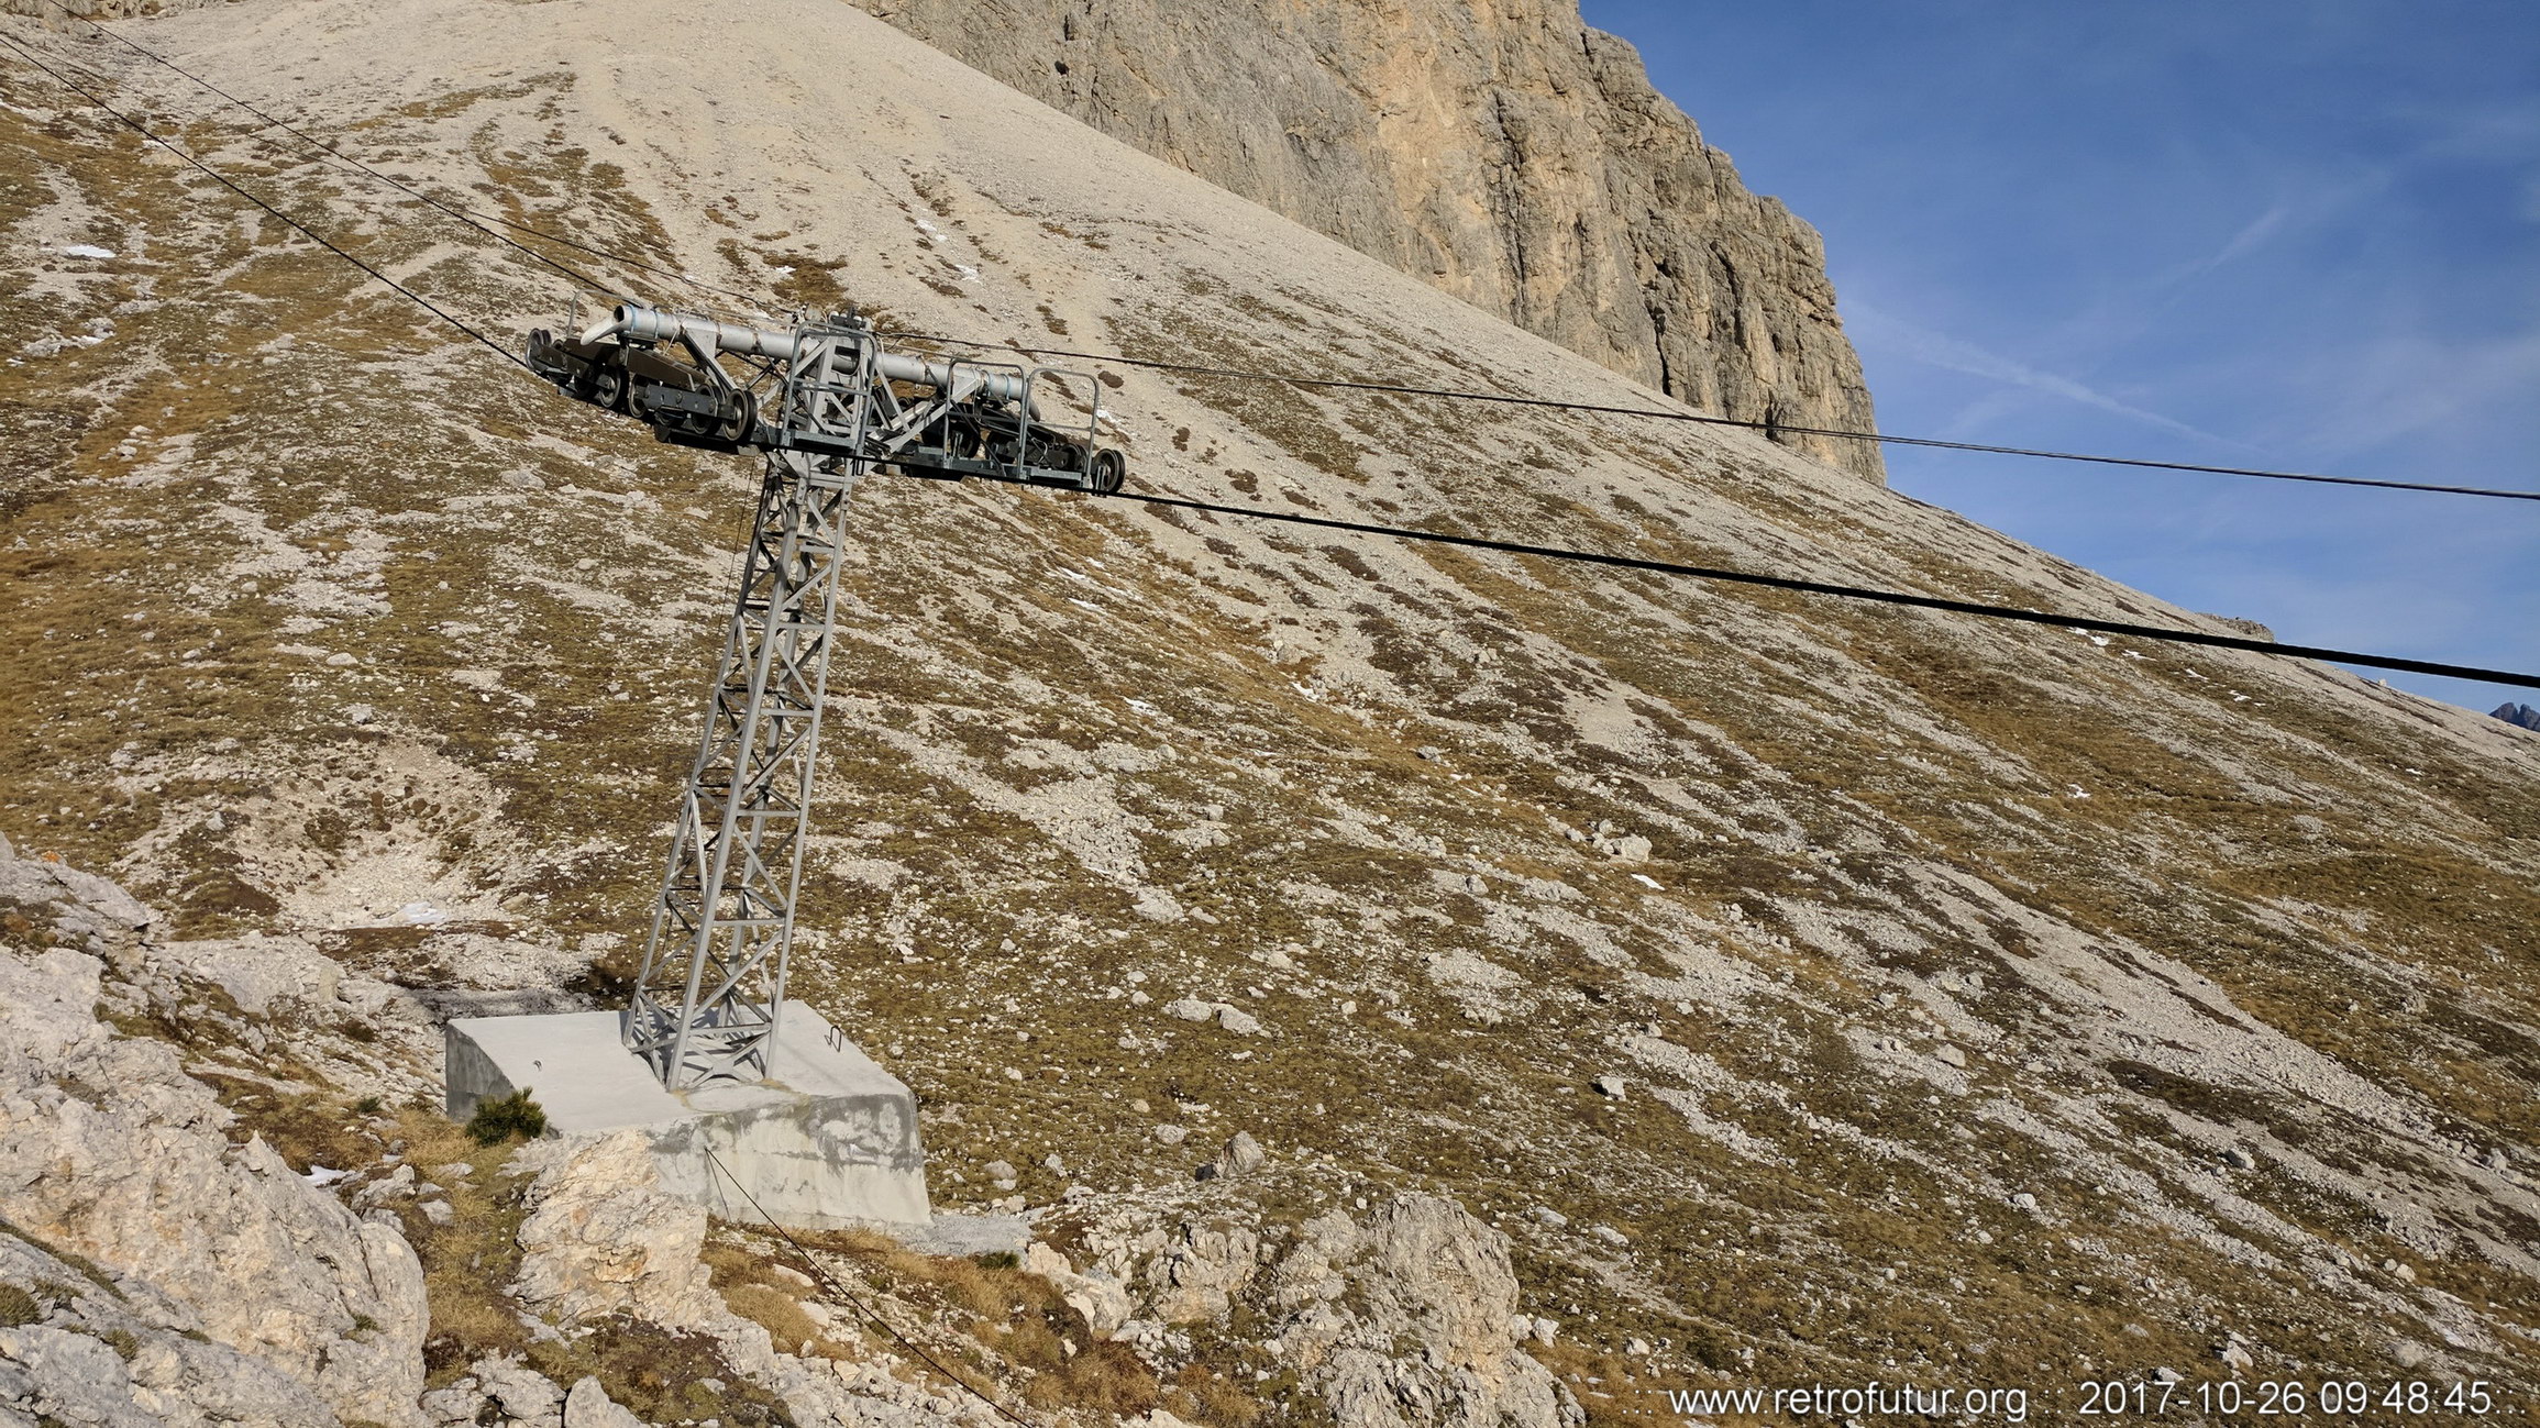
<path fill-rule="evenodd" d="M 1582 10 L 1826 234 L 1882 429 L 2540 490 L 2540 3 Z M 2289 643 L 2540 673 L 2540 503 L 1887 462 Z"/>

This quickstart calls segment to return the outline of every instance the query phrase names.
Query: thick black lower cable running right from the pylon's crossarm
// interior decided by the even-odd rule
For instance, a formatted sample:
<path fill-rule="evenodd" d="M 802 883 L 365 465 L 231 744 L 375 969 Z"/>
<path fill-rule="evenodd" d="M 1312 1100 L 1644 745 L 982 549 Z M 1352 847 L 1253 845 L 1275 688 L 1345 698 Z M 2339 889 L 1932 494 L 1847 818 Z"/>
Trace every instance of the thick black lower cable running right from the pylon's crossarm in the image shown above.
<path fill-rule="evenodd" d="M 1946 600 L 1941 595 L 1910 595 L 1902 589 L 1869 589 L 1859 584 L 1826 584 L 1821 579 L 1793 579 L 1786 574 L 1758 574 L 1750 569 L 1714 569 L 1699 564 L 1654 562 L 1643 556 L 1610 556 L 1598 551 L 1572 551 L 1562 546 L 1529 546 L 1519 541 L 1494 541 L 1488 536 L 1455 536 L 1448 531 L 1410 531 L 1402 526 L 1374 526 L 1367 521 L 1339 521 L 1331 516 L 1300 516 L 1295 511 L 1262 511 L 1257 506 L 1217 506 L 1212 501 L 1189 501 L 1181 495 L 1148 495 L 1138 490 L 1115 490 L 1110 501 L 1138 501 L 1143 506 L 1168 506 L 1179 511 L 1206 511 L 1212 516 L 1247 516 L 1255 521 L 1280 521 L 1288 526 L 1316 526 L 1323 531 L 1351 531 L 1359 536 L 1387 536 L 1397 541 L 1433 541 L 1443 546 L 1463 546 L 1473 551 L 1499 551 L 1514 556 L 1539 556 L 1557 562 L 1600 564 L 1610 569 L 1638 569 L 1648 574 L 1676 574 L 1692 579 L 1720 579 L 1732 584 L 1760 584 L 1765 589 L 1793 589 L 1801 595 L 1831 595 L 1839 600 L 1869 600 L 1877 605 L 1908 605 L 1915 610 L 1943 610 L 1951 615 L 1979 615 L 1986 620 L 2017 620 L 2024 625 L 2062 625 L 2068 630 L 2088 630 L 2098 635 L 2126 635 L 2131 640 L 2156 640 L 2172 645 L 2207 645 L 2217 650 L 2248 650 L 2261 656 L 2286 656 L 2306 661 L 2334 661 L 2365 668 L 2393 668 L 2405 673 L 2436 673 L 2443 678 L 2474 678 L 2484 684 L 2512 684 L 2522 689 L 2540 689 L 2540 673 L 2515 673 L 2507 668 L 2474 668 L 2438 661 L 2410 661 L 2398 656 L 2372 656 L 2362 650 L 2329 650 L 2319 645 L 2283 645 L 2276 640 L 2250 640 L 2243 635 L 2207 635 L 2202 630 L 2179 630 L 2172 625 L 2134 625 L 2126 620 L 2098 620 L 2090 615 L 2050 615 L 2042 610 L 2022 610 L 2017 605 L 1981 605 L 1974 600 Z"/>

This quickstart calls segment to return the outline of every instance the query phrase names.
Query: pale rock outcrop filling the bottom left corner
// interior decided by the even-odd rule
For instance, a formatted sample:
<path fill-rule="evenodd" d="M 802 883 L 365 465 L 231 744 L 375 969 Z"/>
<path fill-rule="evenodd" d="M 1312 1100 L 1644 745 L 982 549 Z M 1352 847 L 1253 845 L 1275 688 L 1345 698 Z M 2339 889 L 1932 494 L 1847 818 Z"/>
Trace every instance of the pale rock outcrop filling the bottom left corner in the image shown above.
<path fill-rule="evenodd" d="M 404 1235 L 353 1217 L 262 1138 L 231 1143 L 231 1113 L 175 1047 L 97 1019 L 107 963 L 91 950 L 145 963 L 147 910 L 104 879 L 18 861 L 5 844 L 0 899 L 13 925 L 0 948 L 0 1220 L 53 1255 L 94 1260 L 112 1298 L 157 1303 L 157 1329 L 259 1359 L 312 1405 L 414 1420 L 427 1314 Z M 112 1331 L 99 1314 L 84 1324 Z M 183 1398 L 196 1375 L 221 1398 L 246 1372 L 170 1352 L 178 1362 L 160 1380 L 135 1382 Z M 38 1380 L 46 1364 L 94 1359 L 81 1354 L 36 1331 L 0 1344 Z"/>

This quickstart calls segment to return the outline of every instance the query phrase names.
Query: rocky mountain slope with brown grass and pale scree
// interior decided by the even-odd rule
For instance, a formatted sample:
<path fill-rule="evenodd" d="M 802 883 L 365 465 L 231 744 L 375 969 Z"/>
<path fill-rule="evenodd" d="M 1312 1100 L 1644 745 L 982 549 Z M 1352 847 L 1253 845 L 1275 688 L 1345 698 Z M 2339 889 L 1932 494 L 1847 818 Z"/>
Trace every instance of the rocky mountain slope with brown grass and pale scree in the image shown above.
<path fill-rule="evenodd" d="M 772 302 L 1656 399 L 848 5 L 135 33 L 450 201 Z M 505 340 L 566 300 L 130 51 L 8 36 Z M 0 1413 L 249 1372 L 297 1420 L 569 1420 L 584 1377 L 650 1423 L 983 1413 L 787 1248 L 429 1110 L 437 1019 L 625 976 L 757 473 L 0 81 L 0 866 L 33 869 L 0 874 Z M 2217 628 L 1745 434 L 1115 379 L 1143 490 Z M 2527 1395 L 2527 732 L 1245 516 L 856 503 L 795 986 L 917 1088 L 937 1204 L 1036 1248 L 810 1250 L 1036 1420 L 1544 1428 L 1867 1380 L 2070 1413 L 2156 1370 Z M 269 1303 L 190 1268 L 226 1245 Z"/>

